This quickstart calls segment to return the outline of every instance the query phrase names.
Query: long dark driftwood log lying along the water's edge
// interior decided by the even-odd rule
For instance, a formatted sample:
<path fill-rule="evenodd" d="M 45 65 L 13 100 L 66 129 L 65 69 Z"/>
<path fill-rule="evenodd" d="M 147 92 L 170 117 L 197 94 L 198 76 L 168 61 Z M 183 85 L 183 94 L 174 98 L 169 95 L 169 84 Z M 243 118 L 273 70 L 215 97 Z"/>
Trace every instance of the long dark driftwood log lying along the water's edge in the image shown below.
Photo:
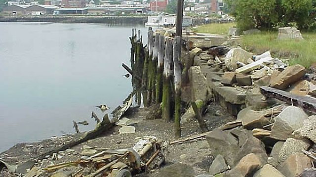
<path fill-rule="evenodd" d="M 109 115 L 106 114 L 103 117 L 103 120 L 97 124 L 96 128 L 92 131 L 89 131 L 84 137 L 79 139 L 78 141 L 70 142 L 68 144 L 63 145 L 62 147 L 50 150 L 48 152 L 45 152 L 43 154 L 40 154 L 37 158 L 39 160 L 42 160 L 45 158 L 46 155 L 52 155 L 53 153 L 57 153 L 59 151 L 66 150 L 68 148 L 72 148 L 74 146 L 77 146 L 83 142 L 86 142 L 88 140 L 94 139 L 97 136 L 107 132 L 110 130 L 110 128 L 115 124 L 116 121 L 127 111 L 127 109 L 131 106 L 132 103 L 132 98 L 133 98 L 133 93 L 130 93 L 128 97 L 125 99 L 123 106 L 118 106 L 113 112 L 113 122 L 110 121 Z"/>

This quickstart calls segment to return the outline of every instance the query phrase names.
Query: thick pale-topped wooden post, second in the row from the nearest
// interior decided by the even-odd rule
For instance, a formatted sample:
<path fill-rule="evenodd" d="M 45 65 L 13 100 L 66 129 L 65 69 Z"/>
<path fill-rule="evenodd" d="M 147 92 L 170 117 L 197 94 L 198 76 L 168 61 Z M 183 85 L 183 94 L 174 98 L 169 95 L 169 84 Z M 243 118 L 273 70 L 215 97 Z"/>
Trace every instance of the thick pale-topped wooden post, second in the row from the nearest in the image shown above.
<path fill-rule="evenodd" d="M 162 86 L 162 118 L 165 121 L 171 119 L 171 65 L 172 65 L 172 45 L 171 39 L 166 40 L 165 55 L 164 55 L 164 66 L 163 66 L 163 86 Z"/>

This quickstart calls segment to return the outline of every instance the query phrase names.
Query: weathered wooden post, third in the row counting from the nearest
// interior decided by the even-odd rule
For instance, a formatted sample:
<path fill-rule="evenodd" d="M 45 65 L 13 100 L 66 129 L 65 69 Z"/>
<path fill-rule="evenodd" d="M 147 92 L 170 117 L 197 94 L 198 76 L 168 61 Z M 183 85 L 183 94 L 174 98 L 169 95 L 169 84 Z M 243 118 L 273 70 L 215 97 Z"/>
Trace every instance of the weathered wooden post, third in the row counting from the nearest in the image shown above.
<path fill-rule="evenodd" d="M 161 103 L 162 100 L 162 75 L 164 65 L 164 36 L 159 35 L 158 47 L 158 70 L 156 79 L 156 103 Z"/>

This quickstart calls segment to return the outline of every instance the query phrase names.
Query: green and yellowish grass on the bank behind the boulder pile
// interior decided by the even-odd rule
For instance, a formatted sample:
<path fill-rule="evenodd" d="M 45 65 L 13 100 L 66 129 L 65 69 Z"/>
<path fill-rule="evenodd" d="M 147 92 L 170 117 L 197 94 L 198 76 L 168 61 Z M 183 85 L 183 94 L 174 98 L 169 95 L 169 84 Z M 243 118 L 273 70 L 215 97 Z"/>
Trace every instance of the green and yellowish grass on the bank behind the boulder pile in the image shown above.
<path fill-rule="evenodd" d="M 228 34 L 235 24 L 209 24 L 197 28 L 197 32 Z M 277 31 L 243 36 L 240 46 L 254 54 L 270 50 L 273 57 L 289 59 L 289 64 L 310 67 L 316 62 L 316 32 L 302 32 L 304 40 L 277 40 Z"/>

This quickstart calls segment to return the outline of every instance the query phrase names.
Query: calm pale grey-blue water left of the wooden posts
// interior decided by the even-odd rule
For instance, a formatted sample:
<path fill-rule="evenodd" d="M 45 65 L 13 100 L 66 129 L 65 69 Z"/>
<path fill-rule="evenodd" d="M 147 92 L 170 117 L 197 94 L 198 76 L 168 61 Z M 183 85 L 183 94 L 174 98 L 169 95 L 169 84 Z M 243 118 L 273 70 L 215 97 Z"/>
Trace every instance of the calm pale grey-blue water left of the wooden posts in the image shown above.
<path fill-rule="evenodd" d="M 74 133 L 94 106 L 111 109 L 131 91 L 131 26 L 0 23 L 0 152 L 16 143 Z M 146 33 L 145 27 L 138 27 Z M 144 42 L 145 43 L 145 42 Z"/>

